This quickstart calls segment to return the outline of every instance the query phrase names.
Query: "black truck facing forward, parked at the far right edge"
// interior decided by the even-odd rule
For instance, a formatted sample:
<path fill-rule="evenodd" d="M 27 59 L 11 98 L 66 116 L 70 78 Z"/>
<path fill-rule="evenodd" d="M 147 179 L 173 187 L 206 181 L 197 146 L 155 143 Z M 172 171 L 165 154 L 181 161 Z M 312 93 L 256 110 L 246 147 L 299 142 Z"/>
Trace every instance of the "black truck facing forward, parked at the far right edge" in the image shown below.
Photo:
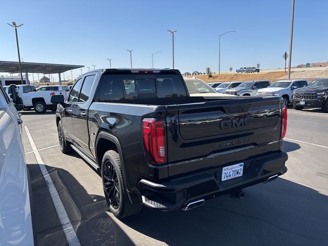
<path fill-rule="evenodd" d="M 328 113 L 328 78 L 318 78 L 307 87 L 294 90 L 292 102 L 296 110 L 320 107 Z"/>

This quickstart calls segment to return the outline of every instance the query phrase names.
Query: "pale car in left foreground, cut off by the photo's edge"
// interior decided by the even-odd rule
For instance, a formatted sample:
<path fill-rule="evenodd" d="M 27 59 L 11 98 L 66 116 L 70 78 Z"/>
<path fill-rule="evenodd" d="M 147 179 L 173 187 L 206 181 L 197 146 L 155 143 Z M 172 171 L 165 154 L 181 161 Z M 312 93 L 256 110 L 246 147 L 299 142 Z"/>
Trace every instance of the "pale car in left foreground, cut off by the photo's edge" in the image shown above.
<path fill-rule="evenodd" d="M 34 245 L 32 193 L 17 97 L 13 92 L 10 99 L 0 85 L 0 245 Z"/>

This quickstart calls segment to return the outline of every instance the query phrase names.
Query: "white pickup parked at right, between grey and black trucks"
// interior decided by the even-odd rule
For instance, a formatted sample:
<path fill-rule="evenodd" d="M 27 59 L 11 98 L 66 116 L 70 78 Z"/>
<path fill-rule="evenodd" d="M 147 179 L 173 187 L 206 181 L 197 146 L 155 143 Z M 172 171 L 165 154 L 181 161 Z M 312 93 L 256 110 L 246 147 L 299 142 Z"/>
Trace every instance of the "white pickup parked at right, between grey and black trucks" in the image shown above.
<path fill-rule="evenodd" d="M 273 83 L 270 87 L 257 91 L 257 96 L 281 96 L 283 105 L 288 106 L 292 99 L 293 90 L 302 88 L 309 84 L 305 79 L 279 80 Z"/>

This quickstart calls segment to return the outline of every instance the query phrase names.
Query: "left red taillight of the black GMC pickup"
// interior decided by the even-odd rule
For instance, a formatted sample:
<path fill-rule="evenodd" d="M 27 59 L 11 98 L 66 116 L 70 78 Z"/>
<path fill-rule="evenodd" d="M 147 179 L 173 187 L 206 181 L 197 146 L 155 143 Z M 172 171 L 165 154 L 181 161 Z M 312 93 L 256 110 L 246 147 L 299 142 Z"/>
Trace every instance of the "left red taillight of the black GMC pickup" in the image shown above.
<path fill-rule="evenodd" d="M 142 120 L 142 138 L 152 165 L 166 162 L 165 121 L 146 118 Z"/>

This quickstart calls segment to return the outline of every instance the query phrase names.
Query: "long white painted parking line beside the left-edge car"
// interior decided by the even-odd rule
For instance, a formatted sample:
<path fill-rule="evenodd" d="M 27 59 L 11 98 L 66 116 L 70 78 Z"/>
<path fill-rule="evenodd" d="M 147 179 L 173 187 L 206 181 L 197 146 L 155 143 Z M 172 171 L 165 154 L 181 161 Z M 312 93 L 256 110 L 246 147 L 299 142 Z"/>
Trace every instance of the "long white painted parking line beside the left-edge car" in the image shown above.
<path fill-rule="evenodd" d="M 42 172 L 42 175 L 46 181 L 46 185 L 47 185 L 47 188 L 49 190 L 49 193 L 50 193 L 50 196 L 51 196 L 51 199 L 53 201 L 53 204 L 55 206 L 55 209 L 57 211 L 57 215 L 58 215 L 58 218 L 59 218 L 59 221 L 61 223 L 61 227 L 63 227 L 63 230 L 64 230 L 64 233 L 65 233 L 65 236 L 66 236 L 66 239 L 67 239 L 67 242 L 68 242 L 68 245 L 70 246 L 80 246 L 80 242 L 76 236 L 76 233 L 74 231 L 74 228 L 72 226 L 72 223 L 67 215 L 67 212 L 64 208 L 64 204 L 63 202 L 61 201 L 59 195 L 58 195 L 58 192 L 56 190 L 56 187 L 48 173 L 48 170 L 45 166 L 45 163 L 43 162 L 35 144 L 34 144 L 34 141 L 33 141 L 33 138 L 29 132 L 29 129 L 27 127 L 24 127 L 25 128 L 25 131 L 26 131 L 26 135 L 30 141 L 30 145 L 32 147 L 32 150 L 33 150 L 33 153 L 34 153 L 34 156 L 36 158 L 36 161 L 39 165 L 39 168 Z"/>

